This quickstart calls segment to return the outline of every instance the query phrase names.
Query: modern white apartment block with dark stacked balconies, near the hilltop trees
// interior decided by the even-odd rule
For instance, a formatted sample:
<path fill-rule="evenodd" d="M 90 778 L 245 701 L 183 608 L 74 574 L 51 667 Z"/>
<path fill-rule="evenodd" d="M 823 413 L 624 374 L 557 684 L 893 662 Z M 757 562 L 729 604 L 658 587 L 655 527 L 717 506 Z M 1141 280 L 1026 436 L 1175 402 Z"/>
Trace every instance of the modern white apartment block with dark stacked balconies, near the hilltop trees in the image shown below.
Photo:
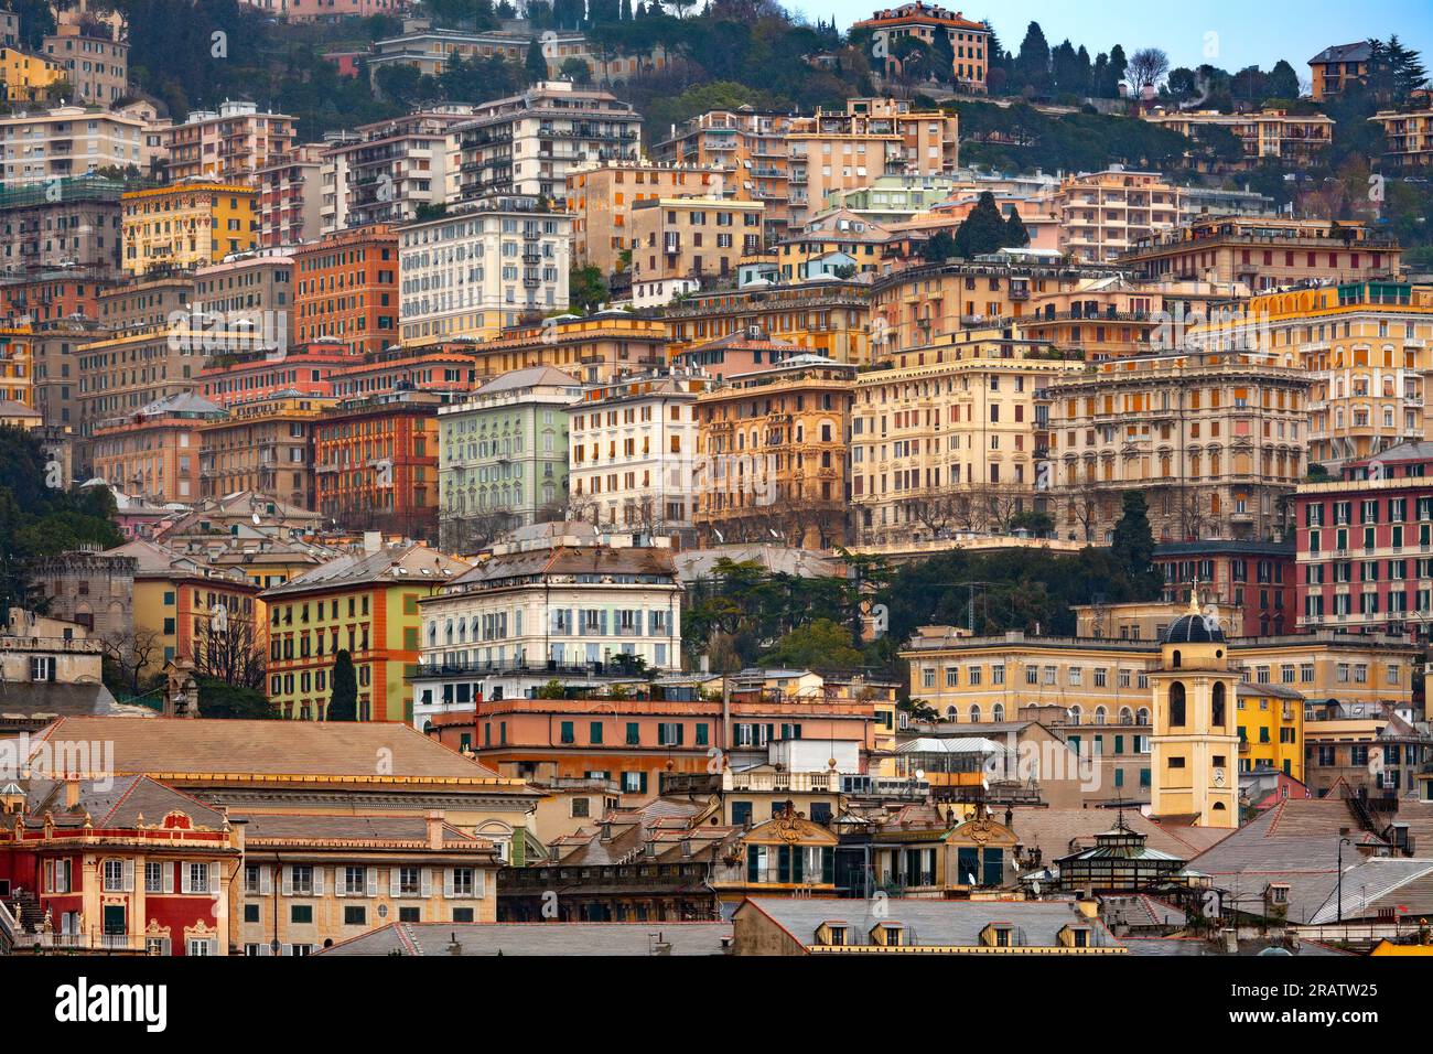
<path fill-rule="evenodd" d="M 562 208 L 572 168 L 639 156 L 642 115 L 610 92 L 545 80 L 477 106 L 454 133 L 464 199 L 519 194 Z"/>

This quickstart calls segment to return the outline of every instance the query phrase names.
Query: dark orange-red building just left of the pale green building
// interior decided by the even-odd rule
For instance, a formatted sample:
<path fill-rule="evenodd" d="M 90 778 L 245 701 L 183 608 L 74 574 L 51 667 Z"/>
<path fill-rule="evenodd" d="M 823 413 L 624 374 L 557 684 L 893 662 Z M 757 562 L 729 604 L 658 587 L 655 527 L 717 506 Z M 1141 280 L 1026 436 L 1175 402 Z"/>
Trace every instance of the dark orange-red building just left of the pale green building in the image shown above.
<path fill-rule="evenodd" d="M 443 402 L 404 390 L 325 410 L 314 426 L 318 512 L 350 531 L 437 538 Z"/>

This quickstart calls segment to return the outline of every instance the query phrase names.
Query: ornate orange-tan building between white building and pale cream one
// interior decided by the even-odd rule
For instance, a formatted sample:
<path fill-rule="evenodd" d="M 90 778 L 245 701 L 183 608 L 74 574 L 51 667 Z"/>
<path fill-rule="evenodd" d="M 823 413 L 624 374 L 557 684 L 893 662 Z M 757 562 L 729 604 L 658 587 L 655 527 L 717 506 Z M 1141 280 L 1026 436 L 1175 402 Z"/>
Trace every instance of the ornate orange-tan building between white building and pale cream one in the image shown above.
<path fill-rule="evenodd" d="M 856 367 L 794 356 L 696 402 L 696 529 L 721 541 L 845 541 Z"/>

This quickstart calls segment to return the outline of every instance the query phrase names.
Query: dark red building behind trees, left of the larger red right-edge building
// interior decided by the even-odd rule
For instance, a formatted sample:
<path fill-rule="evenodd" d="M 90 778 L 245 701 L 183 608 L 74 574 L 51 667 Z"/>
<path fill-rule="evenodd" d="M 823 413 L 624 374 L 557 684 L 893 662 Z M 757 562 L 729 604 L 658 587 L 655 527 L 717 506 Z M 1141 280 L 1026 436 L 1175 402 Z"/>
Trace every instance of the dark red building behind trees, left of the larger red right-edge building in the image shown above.
<path fill-rule="evenodd" d="M 1184 604 L 1198 581 L 1199 602 L 1242 612 L 1240 637 L 1293 632 L 1297 612 L 1294 543 L 1166 542 L 1155 546 L 1164 599 Z"/>

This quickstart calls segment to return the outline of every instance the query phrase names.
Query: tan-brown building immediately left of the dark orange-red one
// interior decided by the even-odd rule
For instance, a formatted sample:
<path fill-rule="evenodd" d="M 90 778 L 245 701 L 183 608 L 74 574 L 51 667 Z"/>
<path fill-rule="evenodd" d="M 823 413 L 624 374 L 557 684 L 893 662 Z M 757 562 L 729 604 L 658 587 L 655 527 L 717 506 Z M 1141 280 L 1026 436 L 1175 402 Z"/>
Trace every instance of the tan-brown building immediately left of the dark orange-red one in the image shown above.
<path fill-rule="evenodd" d="M 228 407 L 199 430 L 199 496 L 248 490 L 315 509 L 314 426 L 332 399 L 279 394 Z"/>

